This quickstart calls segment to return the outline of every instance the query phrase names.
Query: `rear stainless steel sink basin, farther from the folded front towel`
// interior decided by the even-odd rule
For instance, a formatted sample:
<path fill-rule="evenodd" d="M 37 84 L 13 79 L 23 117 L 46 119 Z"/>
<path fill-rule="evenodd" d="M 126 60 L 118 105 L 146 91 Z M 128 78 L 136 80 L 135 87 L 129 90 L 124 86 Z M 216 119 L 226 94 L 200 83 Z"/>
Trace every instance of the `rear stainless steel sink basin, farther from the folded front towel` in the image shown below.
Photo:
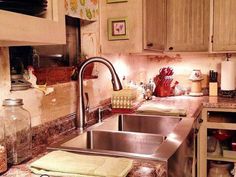
<path fill-rule="evenodd" d="M 181 121 L 179 117 L 125 114 L 105 120 L 95 129 L 152 133 L 167 136 Z"/>

